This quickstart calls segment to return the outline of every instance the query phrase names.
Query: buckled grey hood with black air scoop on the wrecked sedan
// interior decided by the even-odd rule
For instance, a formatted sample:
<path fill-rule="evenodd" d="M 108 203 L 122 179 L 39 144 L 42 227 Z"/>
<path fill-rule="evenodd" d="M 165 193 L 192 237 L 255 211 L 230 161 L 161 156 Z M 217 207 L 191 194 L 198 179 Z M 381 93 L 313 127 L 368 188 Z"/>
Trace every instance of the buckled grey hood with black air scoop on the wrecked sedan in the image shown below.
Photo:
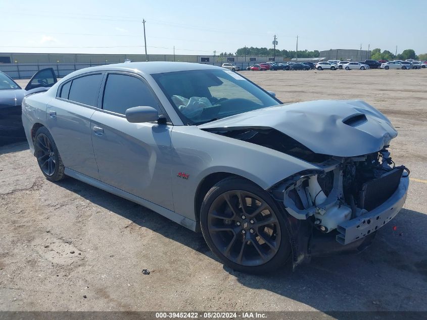
<path fill-rule="evenodd" d="M 383 149 L 397 136 L 390 120 L 360 100 L 320 100 L 249 111 L 198 126 L 207 131 L 273 128 L 311 151 L 352 157 Z"/>

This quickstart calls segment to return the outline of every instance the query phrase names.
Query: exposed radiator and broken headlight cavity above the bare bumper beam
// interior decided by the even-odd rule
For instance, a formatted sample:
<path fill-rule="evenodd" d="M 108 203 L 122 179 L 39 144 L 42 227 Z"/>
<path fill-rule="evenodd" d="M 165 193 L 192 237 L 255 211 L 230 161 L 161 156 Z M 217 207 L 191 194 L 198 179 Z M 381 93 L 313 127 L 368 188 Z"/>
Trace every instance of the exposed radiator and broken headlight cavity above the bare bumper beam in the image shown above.
<path fill-rule="evenodd" d="M 321 169 L 291 176 L 270 192 L 291 216 L 310 221 L 322 233 L 384 203 L 408 171 L 395 166 L 387 149 L 358 157 L 329 157 L 316 165 Z"/>

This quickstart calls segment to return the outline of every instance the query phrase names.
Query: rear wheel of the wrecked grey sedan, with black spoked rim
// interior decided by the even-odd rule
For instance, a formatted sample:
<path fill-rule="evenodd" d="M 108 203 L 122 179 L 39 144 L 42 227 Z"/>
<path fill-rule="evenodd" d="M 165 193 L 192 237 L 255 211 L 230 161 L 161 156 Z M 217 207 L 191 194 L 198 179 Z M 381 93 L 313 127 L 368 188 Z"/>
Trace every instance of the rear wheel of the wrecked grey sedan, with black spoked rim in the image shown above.
<path fill-rule="evenodd" d="M 35 133 L 34 153 L 38 166 L 46 179 L 59 181 L 65 177 L 64 164 L 51 132 L 40 127 Z"/>

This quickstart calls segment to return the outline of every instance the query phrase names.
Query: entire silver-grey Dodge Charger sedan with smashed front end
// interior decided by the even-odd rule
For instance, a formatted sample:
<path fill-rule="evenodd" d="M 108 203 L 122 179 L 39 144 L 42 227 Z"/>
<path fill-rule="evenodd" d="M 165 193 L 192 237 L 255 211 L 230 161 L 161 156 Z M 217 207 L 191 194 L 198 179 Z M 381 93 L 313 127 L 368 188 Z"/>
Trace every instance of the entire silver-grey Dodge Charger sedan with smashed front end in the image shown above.
<path fill-rule="evenodd" d="M 227 266 L 272 271 L 358 252 L 402 208 L 397 131 L 359 101 L 283 104 L 230 70 L 135 62 L 75 71 L 28 95 L 45 177 L 70 176 L 193 230 Z"/>

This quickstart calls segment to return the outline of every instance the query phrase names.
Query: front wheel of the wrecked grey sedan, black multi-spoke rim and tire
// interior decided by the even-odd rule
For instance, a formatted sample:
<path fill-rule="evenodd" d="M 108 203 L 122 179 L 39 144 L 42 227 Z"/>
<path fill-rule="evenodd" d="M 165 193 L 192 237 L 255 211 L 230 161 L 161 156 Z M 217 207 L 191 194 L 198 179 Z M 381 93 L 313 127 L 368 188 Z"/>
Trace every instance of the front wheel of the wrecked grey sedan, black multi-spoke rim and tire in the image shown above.
<path fill-rule="evenodd" d="M 291 254 L 284 220 L 275 201 L 252 182 L 231 177 L 206 194 L 200 212 L 209 248 L 234 270 L 268 273 Z"/>

